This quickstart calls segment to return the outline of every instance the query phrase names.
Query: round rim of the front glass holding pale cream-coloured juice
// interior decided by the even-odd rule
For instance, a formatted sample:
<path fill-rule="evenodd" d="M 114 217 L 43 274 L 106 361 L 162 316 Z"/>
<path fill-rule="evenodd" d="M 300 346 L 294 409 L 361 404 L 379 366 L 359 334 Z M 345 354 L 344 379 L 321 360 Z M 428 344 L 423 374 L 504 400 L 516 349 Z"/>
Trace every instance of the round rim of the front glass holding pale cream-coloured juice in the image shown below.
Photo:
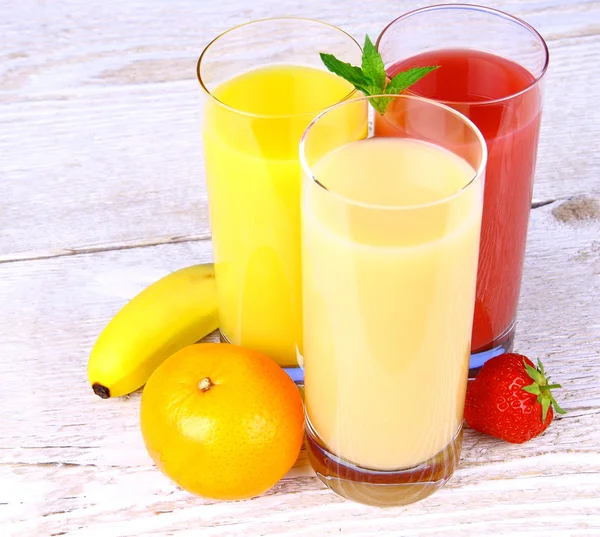
<path fill-rule="evenodd" d="M 341 107 L 341 106 L 347 106 L 349 104 L 352 103 L 358 103 L 360 101 L 367 101 L 367 105 L 369 104 L 369 99 L 372 99 L 373 97 L 389 97 L 392 99 L 408 99 L 411 101 L 420 101 L 423 103 L 427 103 L 428 105 L 437 107 L 437 108 L 441 108 L 443 110 L 445 110 L 446 112 L 449 112 L 450 114 L 452 114 L 453 116 L 455 116 L 456 118 L 458 118 L 460 121 L 462 121 L 465 125 L 467 125 L 468 127 L 471 128 L 471 130 L 475 133 L 475 137 L 477 138 L 478 142 L 479 142 L 479 146 L 481 148 L 481 162 L 479 163 L 479 166 L 477 166 L 477 168 L 475 169 L 475 173 L 473 175 L 473 177 L 471 177 L 471 179 L 469 179 L 469 181 L 463 185 L 462 187 L 460 187 L 458 190 L 456 190 L 455 192 L 452 192 L 451 194 L 434 200 L 434 201 L 429 201 L 426 203 L 416 203 L 413 205 L 379 205 L 376 203 L 365 203 L 362 201 L 357 201 L 354 199 L 351 199 L 347 196 L 344 196 L 342 194 L 339 194 L 338 192 L 335 192 L 333 190 L 328 189 L 325 185 L 323 185 L 323 183 L 321 183 L 313 174 L 312 172 L 312 168 L 311 166 L 308 164 L 307 160 L 306 160 L 306 139 L 307 137 L 310 135 L 310 132 L 312 130 L 312 128 L 315 126 L 315 124 L 317 122 L 319 122 L 323 117 L 325 117 L 327 114 L 329 114 L 330 112 L 332 112 L 333 110 Z M 377 113 L 377 112 L 376 112 Z M 369 121 L 367 120 L 367 124 L 369 123 Z M 365 138 L 367 139 L 367 138 Z M 360 140 L 357 140 L 360 141 Z M 433 142 L 426 142 L 426 143 L 431 143 L 432 145 L 439 145 L 439 144 L 434 144 Z M 341 146 L 340 146 L 341 147 Z M 337 148 L 334 148 L 332 151 L 335 151 Z M 445 148 L 444 148 L 445 149 Z M 448 149 L 446 149 L 446 151 L 450 151 Z M 452 151 L 450 151 L 451 153 L 453 153 Z M 330 151 L 331 153 L 331 151 Z M 454 155 L 456 155 L 455 153 L 453 153 Z M 458 155 L 456 155 L 458 156 Z M 333 106 L 330 106 L 329 108 L 327 108 L 326 110 L 323 110 L 323 112 L 321 112 L 317 117 L 315 117 L 308 125 L 308 127 L 306 127 L 306 130 L 304 131 L 304 133 L 302 133 L 302 138 L 300 138 L 300 145 L 299 145 L 299 157 L 300 157 L 300 167 L 304 173 L 304 175 L 308 178 L 308 180 L 310 181 L 314 181 L 316 185 L 318 185 L 319 187 L 321 187 L 323 190 L 325 190 L 329 195 L 336 197 L 339 201 L 348 204 L 348 205 L 354 205 L 357 207 L 362 207 L 365 209 L 373 209 L 373 210 L 387 210 L 387 211 L 401 211 L 401 210 L 408 210 L 408 211 L 413 211 L 413 210 L 420 210 L 420 209 L 426 209 L 428 207 L 434 207 L 436 205 L 443 205 L 444 203 L 447 203 L 449 201 L 451 201 L 452 199 L 460 196 L 464 191 L 468 190 L 480 177 L 483 176 L 484 172 L 485 172 L 485 167 L 487 165 L 487 159 L 488 159 L 488 151 L 487 151 L 487 145 L 485 143 L 485 138 L 483 137 L 483 134 L 481 134 L 481 131 L 477 128 L 477 126 L 475 125 L 475 123 L 473 123 L 468 117 L 466 117 L 464 114 L 461 114 L 460 112 L 454 110 L 454 108 L 451 108 L 450 106 L 445 105 L 444 103 L 441 103 L 439 101 L 435 101 L 433 99 L 427 99 L 426 97 L 421 97 L 418 95 L 405 95 L 405 94 L 381 94 L 381 95 L 369 95 L 369 96 L 362 96 L 362 97 L 357 97 L 356 99 L 349 99 L 343 102 L 339 102 Z M 462 158 L 462 157 L 459 157 Z M 464 159 L 463 159 L 464 160 Z"/>

